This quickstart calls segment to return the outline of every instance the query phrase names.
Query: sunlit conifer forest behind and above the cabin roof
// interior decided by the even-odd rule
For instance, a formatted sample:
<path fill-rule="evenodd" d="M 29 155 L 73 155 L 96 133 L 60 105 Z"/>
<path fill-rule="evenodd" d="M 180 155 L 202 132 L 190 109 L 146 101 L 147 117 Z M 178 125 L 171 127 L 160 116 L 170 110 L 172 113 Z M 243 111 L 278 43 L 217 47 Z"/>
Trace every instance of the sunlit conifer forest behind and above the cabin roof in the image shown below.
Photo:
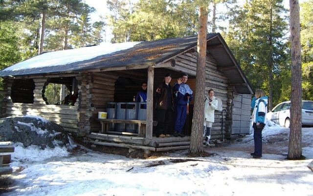
<path fill-rule="evenodd" d="M 108 12 L 94 21 L 97 8 L 84 0 L 0 0 L 0 69 L 43 52 L 198 33 L 197 0 L 103 2 Z M 289 10 L 283 3 L 207 0 L 208 33 L 221 33 L 254 90 L 271 99 L 269 109 L 291 97 Z M 313 100 L 313 0 L 300 1 L 300 26 L 302 99 Z"/>

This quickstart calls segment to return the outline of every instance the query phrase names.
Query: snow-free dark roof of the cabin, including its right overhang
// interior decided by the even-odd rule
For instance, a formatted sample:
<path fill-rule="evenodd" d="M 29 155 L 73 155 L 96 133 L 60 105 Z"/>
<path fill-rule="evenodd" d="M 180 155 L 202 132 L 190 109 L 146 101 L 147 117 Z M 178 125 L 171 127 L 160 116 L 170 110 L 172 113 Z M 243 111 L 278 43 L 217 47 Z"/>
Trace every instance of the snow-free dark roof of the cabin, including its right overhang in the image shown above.
<path fill-rule="evenodd" d="M 132 48 L 99 55 L 89 60 L 65 64 L 60 60 L 56 66 L 0 71 L 0 76 L 36 75 L 52 73 L 78 73 L 83 71 L 105 71 L 108 68 L 132 67 L 146 68 L 174 58 L 175 56 L 197 46 L 197 35 L 183 38 L 168 38 L 151 42 L 141 42 Z M 89 47 L 92 50 L 92 47 Z M 207 34 L 207 50 L 217 61 L 218 68 L 225 73 L 231 84 L 239 93 L 253 94 L 252 87 L 246 79 L 232 52 L 219 33 Z M 61 51 L 60 51 L 61 52 Z M 33 57 L 35 58 L 35 57 Z M 58 59 L 56 59 L 57 61 Z"/>

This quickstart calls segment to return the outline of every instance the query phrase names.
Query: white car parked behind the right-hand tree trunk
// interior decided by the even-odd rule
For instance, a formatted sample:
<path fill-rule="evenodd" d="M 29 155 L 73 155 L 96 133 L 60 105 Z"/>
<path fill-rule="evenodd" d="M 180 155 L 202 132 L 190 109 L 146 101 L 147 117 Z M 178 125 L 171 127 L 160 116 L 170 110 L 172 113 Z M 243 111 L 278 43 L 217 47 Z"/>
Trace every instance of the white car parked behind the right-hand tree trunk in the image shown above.
<path fill-rule="evenodd" d="M 268 112 L 266 117 L 268 120 L 289 128 L 290 101 L 279 103 L 272 111 Z M 313 101 L 302 101 L 302 124 L 313 126 Z"/>

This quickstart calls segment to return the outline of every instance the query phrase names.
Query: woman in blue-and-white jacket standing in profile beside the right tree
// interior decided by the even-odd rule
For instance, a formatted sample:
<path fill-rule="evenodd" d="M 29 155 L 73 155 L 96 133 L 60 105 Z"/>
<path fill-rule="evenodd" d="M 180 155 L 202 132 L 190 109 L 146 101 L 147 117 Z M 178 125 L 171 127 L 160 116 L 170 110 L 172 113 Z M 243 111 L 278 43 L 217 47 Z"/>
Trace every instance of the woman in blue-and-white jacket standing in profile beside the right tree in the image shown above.
<path fill-rule="evenodd" d="M 268 96 L 265 95 L 264 91 L 258 89 L 255 91 L 255 97 L 252 98 L 251 108 L 252 112 L 252 122 L 253 122 L 253 139 L 254 139 L 254 152 L 250 153 L 253 158 L 262 157 L 262 130 L 266 124 L 266 114 Z"/>

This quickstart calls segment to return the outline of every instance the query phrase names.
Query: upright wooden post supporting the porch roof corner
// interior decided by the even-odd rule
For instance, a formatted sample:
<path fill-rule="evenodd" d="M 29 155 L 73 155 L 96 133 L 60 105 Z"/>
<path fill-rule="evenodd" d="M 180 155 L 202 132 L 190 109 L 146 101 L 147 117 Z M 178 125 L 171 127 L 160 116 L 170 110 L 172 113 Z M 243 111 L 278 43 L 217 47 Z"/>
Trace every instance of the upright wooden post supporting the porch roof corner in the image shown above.
<path fill-rule="evenodd" d="M 153 129 L 153 81 L 155 77 L 154 67 L 148 67 L 148 87 L 147 87 L 147 113 L 146 113 L 146 139 L 152 139 Z"/>

